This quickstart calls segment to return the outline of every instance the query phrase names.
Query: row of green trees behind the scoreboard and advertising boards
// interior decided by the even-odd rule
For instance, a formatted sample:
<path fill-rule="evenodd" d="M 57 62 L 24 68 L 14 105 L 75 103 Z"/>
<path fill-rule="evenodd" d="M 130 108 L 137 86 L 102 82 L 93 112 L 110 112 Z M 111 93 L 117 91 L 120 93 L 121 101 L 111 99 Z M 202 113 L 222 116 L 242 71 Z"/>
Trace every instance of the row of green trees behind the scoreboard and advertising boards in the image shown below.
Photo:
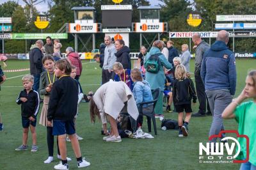
<path fill-rule="evenodd" d="M 41 33 L 34 25 L 35 17 L 40 14 L 35 8 L 35 4 L 42 3 L 40 0 L 22 0 L 26 3 L 24 7 L 15 1 L 7 1 L 0 4 L 0 17 L 12 17 L 12 33 Z M 160 2 L 161 1 L 161 2 Z M 44 1 L 45 2 L 45 1 Z M 101 23 L 102 16 L 100 6 L 102 4 L 113 4 L 111 0 L 46 0 L 49 10 L 44 12 L 49 19 L 49 26 L 43 30 L 43 33 L 56 33 L 65 23 L 74 23 L 74 12 L 71 10 L 74 6 L 93 6 L 96 9 L 96 22 Z M 160 21 L 168 22 L 168 31 L 216 31 L 216 15 L 253 15 L 256 9 L 255 0 L 159 0 L 161 3 Z M 122 4 L 132 4 L 132 22 L 140 22 L 138 6 L 148 6 L 148 0 L 124 0 Z M 186 18 L 189 13 L 198 13 L 202 17 L 202 23 L 198 27 L 191 27 L 187 24 Z M 8 25 L 8 24 L 5 24 Z M 83 40 L 87 40 L 89 34 L 79 35 Z M 145 34 L 147 38 L 153 40 L 154 34 Z M 161 40 L 169 40 L 168 33 L 161 34 Z M 130 34 L 130 48 L 132 52 L 138 52 L 140 48 L 140 35 L 138 33 Z M 96 34 L 96 48 L 99 48 L 103 42 L 104 34 Z M 175 38 L 177 49 L 181 48 L 183 43 L 189 43 L 189 38 Z M 209 38 L 205 38 L 209 42 Z M 214 39 L 212 38 L 212 42 Z M 255 52 L 256 38 L 235 38 L 235 49 L 237 52 Z M 28 52 L 31 44 L 35 40 L 4 40 L 5 53 L 23 53 Z M 63 44 L 62 52 L 68 46 L 74 47 L 74 36 L 68 34 L 67 40 L 61 40 Z M 232 39 L 230 39 L 232 43 Z M 143 42 L 144 44 L 144 42 Z M 0 43 L 0 53 L 2 50 Z M 148 45 L 145 43 L 145 46 Z M 88 45 L 92 49 L 92 44 Z M 232 48 L 232 45 L 230 45 Z M 79 43 L 78 50 L 83 49 Z M 193 52 L 193 51 L 192 51 Z"/>

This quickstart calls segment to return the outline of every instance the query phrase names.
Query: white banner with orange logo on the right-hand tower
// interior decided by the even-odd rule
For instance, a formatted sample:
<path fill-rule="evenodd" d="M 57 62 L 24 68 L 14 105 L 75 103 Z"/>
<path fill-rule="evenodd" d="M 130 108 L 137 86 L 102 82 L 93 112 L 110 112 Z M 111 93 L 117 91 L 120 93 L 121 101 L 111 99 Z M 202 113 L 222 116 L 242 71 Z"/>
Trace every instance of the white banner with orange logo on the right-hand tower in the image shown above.
<path fill-rule="evenodd" d="M 164 22 L 136 22 L 134 31 L 136 33 L 163 33 Z"/>

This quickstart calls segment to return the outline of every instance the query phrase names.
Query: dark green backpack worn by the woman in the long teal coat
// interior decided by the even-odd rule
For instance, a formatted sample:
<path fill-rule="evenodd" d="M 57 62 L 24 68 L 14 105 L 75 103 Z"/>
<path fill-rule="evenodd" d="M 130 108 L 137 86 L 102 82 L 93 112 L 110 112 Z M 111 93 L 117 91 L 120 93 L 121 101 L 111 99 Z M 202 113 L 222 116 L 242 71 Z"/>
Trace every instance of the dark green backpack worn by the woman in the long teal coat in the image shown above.
<path fill-rule="evenodd" d="M 144 64 L 144 66 L 146 66 L 147 72 L 150 72 L 150 73 L 158 73 L 159 72 L 162 64 L 158 57 L 161 55 L 162 55 L 162 53 L 153 54 L 147 59 L 147 61 Z"/>

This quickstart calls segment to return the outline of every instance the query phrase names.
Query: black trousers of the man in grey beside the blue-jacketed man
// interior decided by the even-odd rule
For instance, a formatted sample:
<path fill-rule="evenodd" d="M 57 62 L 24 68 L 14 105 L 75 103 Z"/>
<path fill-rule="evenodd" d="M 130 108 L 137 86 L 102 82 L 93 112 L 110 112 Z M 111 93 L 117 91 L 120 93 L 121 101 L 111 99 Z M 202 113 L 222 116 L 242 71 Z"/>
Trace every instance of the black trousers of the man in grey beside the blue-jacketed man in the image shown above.
<path fill-rule="evenodd" d="M 199 102 L 198 112 L 203 114 L 206 112 L 206 102 L 207 102 L 207 111 L 211 112 L 208 99 L 205 94 L 204 82 L 202 81 L 202 78 L 200 75 L 195 75 L 195 82 L 196 82 L 196 95 Z"/>

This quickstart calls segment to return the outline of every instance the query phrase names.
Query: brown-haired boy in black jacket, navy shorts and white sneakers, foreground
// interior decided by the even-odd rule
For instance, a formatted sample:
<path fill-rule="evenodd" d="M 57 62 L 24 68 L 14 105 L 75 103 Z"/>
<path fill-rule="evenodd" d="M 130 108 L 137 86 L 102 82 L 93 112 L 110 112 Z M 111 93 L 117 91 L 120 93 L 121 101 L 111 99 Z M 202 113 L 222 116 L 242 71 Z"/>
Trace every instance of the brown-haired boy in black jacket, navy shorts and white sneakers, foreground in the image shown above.
<path fill-rule="evenodd" d="M 77 167 L 90 166 L 90 162 L 82 159 L 80 146 L 74 127 L 74 116 L 77 112 L 78 84 L 70 77 L 72 71 L 67 59 L 60 59 L 55 63 L 55 75 L 58 81 L 54 82 L 47 112 L 48 125 L 53 125 L 53 135 L 58 136 L 61 163 L 54 169 L 68 169 L 66 134 L 72 143 L 77 158 Z"/>

